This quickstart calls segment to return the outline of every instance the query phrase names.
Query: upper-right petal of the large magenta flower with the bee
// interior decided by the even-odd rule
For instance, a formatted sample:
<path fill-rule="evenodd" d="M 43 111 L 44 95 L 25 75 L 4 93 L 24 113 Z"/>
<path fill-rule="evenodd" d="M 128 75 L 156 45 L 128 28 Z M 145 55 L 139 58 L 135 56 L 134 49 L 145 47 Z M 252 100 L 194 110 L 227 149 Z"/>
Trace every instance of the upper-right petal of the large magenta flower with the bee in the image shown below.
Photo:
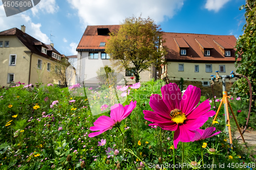
<path fill-rule="evenodd" d="M 200 101 L 201 90 L 196 86 L 189 85 L 184 92 L 181 99 L 181 110 L 183 113 L 188 114 L 191 110 L 195 109 Z"/>

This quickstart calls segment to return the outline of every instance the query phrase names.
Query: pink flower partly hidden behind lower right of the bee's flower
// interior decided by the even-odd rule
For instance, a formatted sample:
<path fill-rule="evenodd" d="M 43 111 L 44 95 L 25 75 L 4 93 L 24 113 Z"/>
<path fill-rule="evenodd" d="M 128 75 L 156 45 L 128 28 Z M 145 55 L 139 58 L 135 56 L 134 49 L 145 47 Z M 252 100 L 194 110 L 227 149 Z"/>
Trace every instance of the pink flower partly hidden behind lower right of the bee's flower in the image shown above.
<path fill-rule="evenodd" d="M 221 131 L 219 131 L 219 132 L 212 134 L 212 132 L 214 132 L 214 131 L 215 131 L 215 127 L 209 127 L 209 128 L 206 128 L 205 130 L 197 129 L 194 131 L 195 137 L 191 141 L 204 140 L 206 138 L 209 138 L 211 136 L 215 136 L 215 135 L 218 135 L 219 133 L 221 133 Z"/>

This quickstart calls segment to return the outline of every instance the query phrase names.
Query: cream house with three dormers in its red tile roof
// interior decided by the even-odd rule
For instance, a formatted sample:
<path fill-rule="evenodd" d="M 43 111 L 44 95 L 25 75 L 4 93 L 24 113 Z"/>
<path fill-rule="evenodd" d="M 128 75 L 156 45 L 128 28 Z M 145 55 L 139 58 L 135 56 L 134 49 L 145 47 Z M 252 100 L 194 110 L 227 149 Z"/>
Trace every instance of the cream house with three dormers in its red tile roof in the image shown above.
<path fill-rule="evenodd" d="M 220 75 L 236 71 L 234 46 L 237 39 L 233 35 L 164 33 L 163 38 L 167 64 L 162 66 L 161 79 L 197 85 L 206 93 L 215 71 Z M 227 80 L 227 85 L 230 87 L 234 81 L 236 79 Z M 220 93 L 221 86 L 218 89 Z"/>

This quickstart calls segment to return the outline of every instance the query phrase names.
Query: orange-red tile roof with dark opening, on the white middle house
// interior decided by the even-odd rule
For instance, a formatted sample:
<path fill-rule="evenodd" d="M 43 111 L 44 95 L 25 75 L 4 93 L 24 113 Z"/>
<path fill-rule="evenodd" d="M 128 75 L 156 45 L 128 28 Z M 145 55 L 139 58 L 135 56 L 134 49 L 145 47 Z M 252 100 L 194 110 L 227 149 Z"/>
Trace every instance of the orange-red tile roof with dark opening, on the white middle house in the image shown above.
<path fill-rule="evenodd" d="M 108 35 L 98 35 L 97 29 L 108 28 L 110 32 L 117 32 L 120 25 L 108 25 L 108 26 L 87 26 L 83 36 L 76 48 L 76 51 L 89 51 L 89 50 L 101 50 L 104 51 L 104 46 L 99 46 L 100 42 L 106 42 L 110 38 Z"/>

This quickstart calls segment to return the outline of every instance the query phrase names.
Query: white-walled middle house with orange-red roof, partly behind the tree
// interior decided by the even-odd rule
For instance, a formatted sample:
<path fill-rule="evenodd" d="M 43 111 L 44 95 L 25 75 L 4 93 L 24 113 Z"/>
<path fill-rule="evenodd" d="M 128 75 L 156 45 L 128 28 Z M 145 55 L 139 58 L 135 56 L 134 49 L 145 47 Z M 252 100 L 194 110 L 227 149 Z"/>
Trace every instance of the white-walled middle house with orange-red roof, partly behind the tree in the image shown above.
<path fill-rule="evenodd" d="M 134 76 L 133 66 L 130 69 L 118 70 L 112 66 L 110 56 L 104 51 L 105 44 L 108 43 L 110 38 L 109 33 L 117 32 L 120 25 L 106 25 L 106 26 L 88 26 L 84 31 L 82 38 L 76 48 L 77 54 L 77 75 L 78 82 L 86 82 L 92 86 L 96 86 L 97 71 L 104 67 L 109 66 L 118 72 L 121 77 L 125 78 L 128 84 L 135 83 L 131 78 Z M 143 71 L 140 74 L 140 81 L 148 81 L 155 77 L 156 74 L 152 74 L 151 71 Z"/>

